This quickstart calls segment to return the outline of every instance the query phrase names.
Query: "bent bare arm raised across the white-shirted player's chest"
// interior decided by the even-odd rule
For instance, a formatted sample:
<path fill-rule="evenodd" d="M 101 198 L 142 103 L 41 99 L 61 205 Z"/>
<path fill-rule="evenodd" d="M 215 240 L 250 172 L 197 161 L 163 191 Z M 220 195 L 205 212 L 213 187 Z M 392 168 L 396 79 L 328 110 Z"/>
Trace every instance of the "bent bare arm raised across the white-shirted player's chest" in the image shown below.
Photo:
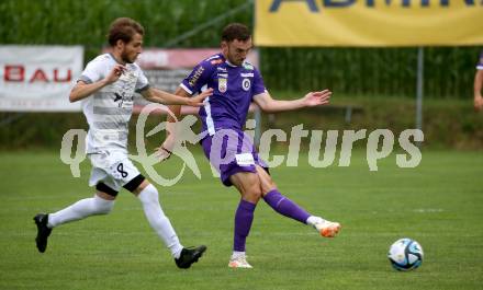
<path fill-rule="evenodd" d="M 93 83 L 86 83 L 83 81 L 78 81 L 77 84 L 72 88 L 72 91 L 70 91 L 69 101 L 70 103 L 80 101 L 82 98 L 88 97 L 89 95 L 96 93 L 97 91 L 101 90 L 105 85 L 109 85 L 115 81 L 119 80 L 121 74 L 124 73 L 125 67 L 122 65 L 116 65 L 111 72 L 105 77 L 104 79 L 93 82 Z"/>

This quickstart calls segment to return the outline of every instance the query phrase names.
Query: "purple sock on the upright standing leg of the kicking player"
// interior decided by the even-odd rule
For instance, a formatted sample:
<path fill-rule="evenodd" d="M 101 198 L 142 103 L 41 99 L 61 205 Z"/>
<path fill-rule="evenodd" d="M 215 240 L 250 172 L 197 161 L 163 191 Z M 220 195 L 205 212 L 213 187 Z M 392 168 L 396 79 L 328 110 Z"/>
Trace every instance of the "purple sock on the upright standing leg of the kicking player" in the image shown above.
<path fill-rule="evenodd" d="M 250 232 L 256 206 L 257 205 L 243 199 L 239 201 L 235 213 L 235 239 L 233 241 L 233 251 L 245 252 L 245 242 Z"/>

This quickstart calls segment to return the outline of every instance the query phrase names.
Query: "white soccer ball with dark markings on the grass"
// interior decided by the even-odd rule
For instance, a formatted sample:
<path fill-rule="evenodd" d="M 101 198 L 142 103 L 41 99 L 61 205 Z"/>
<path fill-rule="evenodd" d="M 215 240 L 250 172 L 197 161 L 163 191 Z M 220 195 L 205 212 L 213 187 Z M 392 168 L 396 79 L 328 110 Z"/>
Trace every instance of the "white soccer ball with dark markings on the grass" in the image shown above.
<path fill-rule="evenodd" d="M 387 258 L 391 265 L 400 271 L 416 269 L 423 263 L 423 247 L 411 239 L 401 239 L 391 245 Z"/>

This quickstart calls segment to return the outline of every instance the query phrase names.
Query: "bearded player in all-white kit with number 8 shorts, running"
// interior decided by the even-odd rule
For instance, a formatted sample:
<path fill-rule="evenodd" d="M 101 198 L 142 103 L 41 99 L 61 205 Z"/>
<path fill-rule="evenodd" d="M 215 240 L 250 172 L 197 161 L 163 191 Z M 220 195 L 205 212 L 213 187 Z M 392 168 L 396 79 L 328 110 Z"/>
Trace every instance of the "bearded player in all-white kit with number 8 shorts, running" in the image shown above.
<path fill-rule="evenodd" d="M 142 53 L 144 28 L 132 19 L 116 19 L 108 40 L 112 53 L 90 61 L 70 92 L 70 102 L 83 100 L 83 114 L 89 123 L 87 154 L 92 163 L 90 186 L 96 195 L 81 199 L 54 213 L 38 213 L 36 246 L 44 253 L 52 229 L 90 216 L 106 214 L 121 187 L 132 192 L 143 205 L 144 213 L 157 235 L 170 250 L 179 268 L 189 268 L 206 250 L 204 245 L 186 248 L 162 212 L 158 190 L 127 158 L 127 126 L 133 112 L 134 92 L 155 103 L 201 106 L 211 91 L 186 98 L 156 90 L 134 63 Z"/>

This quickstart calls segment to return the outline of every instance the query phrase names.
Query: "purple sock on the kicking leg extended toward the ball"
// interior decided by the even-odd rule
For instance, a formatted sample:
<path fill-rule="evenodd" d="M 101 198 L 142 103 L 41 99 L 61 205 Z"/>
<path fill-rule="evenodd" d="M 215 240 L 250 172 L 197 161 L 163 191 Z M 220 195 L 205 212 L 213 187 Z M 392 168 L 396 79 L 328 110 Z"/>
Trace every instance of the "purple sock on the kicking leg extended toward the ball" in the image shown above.
<path fill-rule="evenodd" d="M 303 208 L 301 208 L 299 205 L 296 205 L 289 198 L 282 196 L 282 194 L 280 194 L 279 190 L 277 189 L 273 189 L 270 193 L 268 193 L 263 197 L 263 200 L 270 207 L 272 207 L 274 211 L 288 218 L 297 220 L 302 223 L 306 223 L 308 217 L 311 217 L 308 212 L 306 212 Z"/>

